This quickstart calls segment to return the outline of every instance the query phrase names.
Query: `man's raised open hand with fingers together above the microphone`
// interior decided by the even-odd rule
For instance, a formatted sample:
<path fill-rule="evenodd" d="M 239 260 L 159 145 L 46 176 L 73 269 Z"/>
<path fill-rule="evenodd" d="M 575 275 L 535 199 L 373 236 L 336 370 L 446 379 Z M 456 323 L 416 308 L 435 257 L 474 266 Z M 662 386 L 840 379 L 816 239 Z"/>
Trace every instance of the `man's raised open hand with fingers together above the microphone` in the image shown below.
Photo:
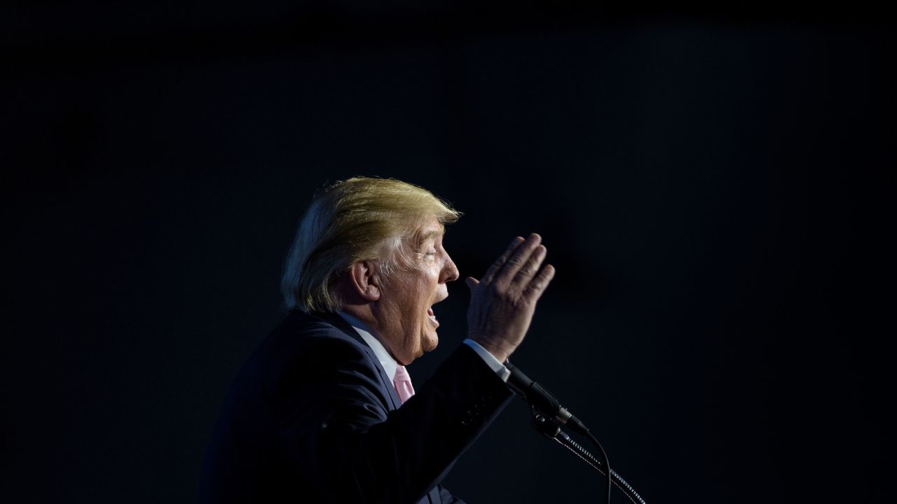
<path fill-rule="evenodd" d="M 496 359 L 504 362 L 527 335 L 536 311 L 536 301 L 554 277 L 554 267 L 545 265 L 542 237 L 512 239 L 483 278 L 467 277 L 470 307 L 467 333 Z"/>

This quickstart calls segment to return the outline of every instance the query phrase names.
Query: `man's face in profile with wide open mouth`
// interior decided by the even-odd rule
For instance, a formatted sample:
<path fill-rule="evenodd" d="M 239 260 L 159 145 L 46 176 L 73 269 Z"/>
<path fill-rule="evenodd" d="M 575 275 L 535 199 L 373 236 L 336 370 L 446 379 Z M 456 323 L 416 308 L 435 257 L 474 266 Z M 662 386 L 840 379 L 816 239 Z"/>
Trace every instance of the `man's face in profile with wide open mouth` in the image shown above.
<path fill-rule="evenodd" d="M 458 277 L 455 263 L 442 248 L 442 233 L 436 217 L 424 221 L 414 239 L 403 244 L 412 266 L 396 268 L 382 287 L 380 336 L 402 365 L 430 352 L 439 343 L 436 328 L 440 324 L 432 306 L 448 298 L 446 282 Z"/>

